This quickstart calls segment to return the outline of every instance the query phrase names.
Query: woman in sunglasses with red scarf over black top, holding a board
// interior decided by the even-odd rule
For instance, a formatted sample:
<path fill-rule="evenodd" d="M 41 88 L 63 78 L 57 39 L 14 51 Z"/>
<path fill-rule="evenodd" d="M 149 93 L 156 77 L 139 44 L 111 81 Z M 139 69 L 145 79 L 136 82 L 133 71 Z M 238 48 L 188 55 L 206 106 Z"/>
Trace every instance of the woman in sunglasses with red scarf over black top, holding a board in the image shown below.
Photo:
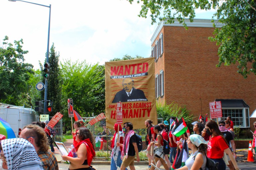
<path fill-rule="evenodd" d="M 69 161 L 69 170 L 93 170 L 91 162 L 95 156 L 95 143 L 88 128 L 79 128 L 75 134 L 75 140 L 78 144 L 75 147 L 77 157 L 72 157 L 72 153 L 62 156 L 64 161 Z"/>

